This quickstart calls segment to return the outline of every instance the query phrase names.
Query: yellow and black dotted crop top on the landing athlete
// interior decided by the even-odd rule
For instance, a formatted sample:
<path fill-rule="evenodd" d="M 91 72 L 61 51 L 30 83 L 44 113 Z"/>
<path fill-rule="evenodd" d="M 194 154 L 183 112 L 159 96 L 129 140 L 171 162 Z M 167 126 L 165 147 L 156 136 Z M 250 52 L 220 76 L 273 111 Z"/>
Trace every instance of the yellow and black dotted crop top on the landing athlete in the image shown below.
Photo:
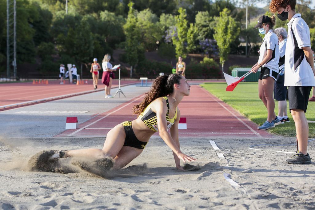
<path fill-rule="evenodd" d="M 167 129 L 169 129 L 169 128 L 172 127 L 172 125 L 174 125 L 175 120 L 177 119 L 177 107 L 176 107 L 176 111 L 175 111 L 175 116 L 173 118 L 169 118 L 169 99 L 166 96 L 164 96 L 163 98 L 166 100 L 166 105 L 167 105 L 166 121 L 167 121 Z M 153 112 L 152 109 L 150 109 L 150 104 L 139 115 L 139 118 L 152 131 L 155 131 L 155 132 L 158 131 L 158 127 L 157 127 L 157 113 Z"/>

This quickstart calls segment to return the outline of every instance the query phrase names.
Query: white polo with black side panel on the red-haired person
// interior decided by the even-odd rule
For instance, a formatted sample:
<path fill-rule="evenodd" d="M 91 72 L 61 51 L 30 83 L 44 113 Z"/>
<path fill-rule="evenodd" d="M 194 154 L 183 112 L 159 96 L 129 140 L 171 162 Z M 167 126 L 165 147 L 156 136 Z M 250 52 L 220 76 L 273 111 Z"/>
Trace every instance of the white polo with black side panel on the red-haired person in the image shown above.
<path fill-rule="evenodd" d="M 311 47 L 310 29 L 301 14 L 295 14 L 288 23 L 284 86 L 315 86 L 312 67 L 305 58 L 303 47 Z"/>

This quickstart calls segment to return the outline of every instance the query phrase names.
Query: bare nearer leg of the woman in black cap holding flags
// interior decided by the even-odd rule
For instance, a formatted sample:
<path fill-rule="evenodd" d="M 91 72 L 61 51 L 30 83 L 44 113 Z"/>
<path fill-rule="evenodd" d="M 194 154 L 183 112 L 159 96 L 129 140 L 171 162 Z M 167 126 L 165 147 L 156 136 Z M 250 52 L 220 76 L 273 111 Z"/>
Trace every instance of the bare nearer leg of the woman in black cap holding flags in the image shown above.
<path fill-rule="evenodd" d="M 276 118 L 275 111 L 275 101 L 273 99 L 273 87 L 274 87 L 274 79 L 272 77 L 267 77 L 266 79 L 262 79 L 262 88 L 264 90 L 265 99 L 267 101 L 267 111 L 268 117 L 267 121 L 272 122 L 273 119 Z"/>

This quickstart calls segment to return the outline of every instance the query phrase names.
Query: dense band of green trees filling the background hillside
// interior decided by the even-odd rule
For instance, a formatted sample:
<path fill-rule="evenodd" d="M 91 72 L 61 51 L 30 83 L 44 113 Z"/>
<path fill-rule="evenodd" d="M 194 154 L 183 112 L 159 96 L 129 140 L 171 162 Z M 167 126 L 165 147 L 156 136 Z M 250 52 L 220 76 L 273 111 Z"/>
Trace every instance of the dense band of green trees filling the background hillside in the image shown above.
<path fill-rule="evenodd" d="M 272 15 L 256 8 L 257 2 L 249 0 L 245 29 L 246 0 L 68 0 L 67 14 L 64 0 L 17 0 L 17 62 L 36 63 L 48 72 L 60 63 L 88 65 L 120 48 L 125 53 L 119 59 L 135 70 L 144 71 L 150 64 L 144 52 L 156 50 L 168 61 L 197 53 L 224 63 L 228 53 L 245 54 L 246 39 L 249 54 L 257 55 L 261 37 L 253 26 L 261 14 Z M 299 0 L 296 11 L 309 25 L 315 48 L 310 3 Z M 287 29 L 286 24 L 276 18 L 275 27 Z M 1 73 L 6 69 L 6 0 L 0 0 L 0 64 Z"/>

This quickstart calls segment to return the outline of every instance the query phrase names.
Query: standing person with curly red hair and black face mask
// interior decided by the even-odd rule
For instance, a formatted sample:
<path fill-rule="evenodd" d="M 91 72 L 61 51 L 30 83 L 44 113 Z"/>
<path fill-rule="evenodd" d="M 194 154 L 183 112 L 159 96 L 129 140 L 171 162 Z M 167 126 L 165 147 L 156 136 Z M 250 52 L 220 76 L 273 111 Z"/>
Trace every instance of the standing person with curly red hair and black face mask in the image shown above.
<path fill-rule="evenodd" d="M 295 12 L 296 0 L 272 0 L 269 9 L 280 20 L 289 20 L 284 60 L 284 86 L 288 86 L 289 109 L 295 122 L 298 149 L 287 163 L 311 163 L 307 153 L 308 124 L 305 116 L 308 97 L 315 85 L 310 30 L 301 14 Z"/>

